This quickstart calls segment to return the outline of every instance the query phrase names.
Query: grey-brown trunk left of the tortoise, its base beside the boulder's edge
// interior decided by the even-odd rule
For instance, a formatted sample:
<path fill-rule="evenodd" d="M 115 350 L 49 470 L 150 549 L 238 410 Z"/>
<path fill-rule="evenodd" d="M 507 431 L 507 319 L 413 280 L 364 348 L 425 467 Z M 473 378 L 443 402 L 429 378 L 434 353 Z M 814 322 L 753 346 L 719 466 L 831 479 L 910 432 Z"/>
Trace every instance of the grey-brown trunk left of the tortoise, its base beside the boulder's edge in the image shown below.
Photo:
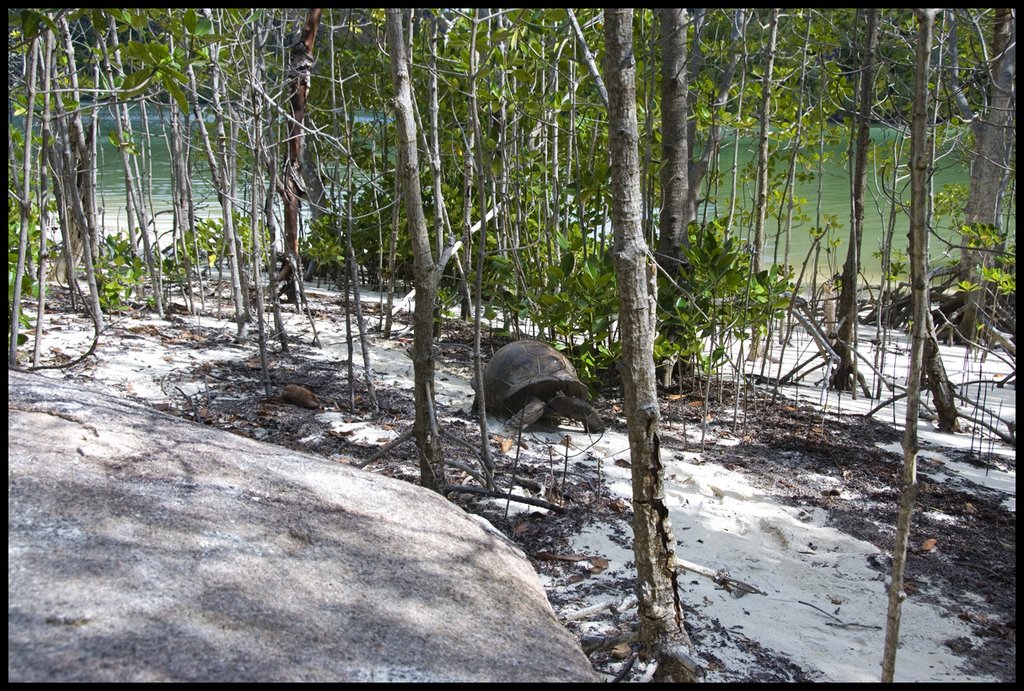
<path fill-rule="evenodd" d="M 420 483 L 435 491 L 445 485 L 443 455 L 434 406 L 433 307 L 437 273 L 430 251 L 427 219 L 420 190 L 419 154 L 409 58 L 402 38 L 401 10 L 387 9 L 387 47 L 395 89 L 395 120 L 398 132 L 398 170 L 406 219 L 413 245 L 416 274 L 416 306 L 413 313 L 413 373 L 416 422 L 414 433 L 420 451 Z"/>

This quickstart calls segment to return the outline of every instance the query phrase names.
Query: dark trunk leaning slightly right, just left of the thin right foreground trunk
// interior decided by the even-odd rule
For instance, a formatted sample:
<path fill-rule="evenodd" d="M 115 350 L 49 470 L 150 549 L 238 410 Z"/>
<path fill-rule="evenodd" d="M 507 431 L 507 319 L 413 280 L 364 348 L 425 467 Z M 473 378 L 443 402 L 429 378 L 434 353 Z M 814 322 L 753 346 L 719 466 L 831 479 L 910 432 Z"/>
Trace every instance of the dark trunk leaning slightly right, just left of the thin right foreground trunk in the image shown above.
<path fill-rule="evenodd" d="M 836 352 L 840 363 L 833 375 L 833 388 L 856 393 L 858 372 L 854 349 L 857 347 L 857 275 L 860 273 L 860 245 L 863 237 L 864 198 L 867 187 L 867 148 L 871 141 L 871 104 L 874 96 L 874 58 L 879 45 L 879 10 L 867 12 L 864 30 L 864 47 L 858 93 L 860 103 L 857 111 L 857 138 L 853 181 L 851 190 L 850 239 L 846 262 L 843 264 L 843 280 L 840 287 L 839 339 Z"/>

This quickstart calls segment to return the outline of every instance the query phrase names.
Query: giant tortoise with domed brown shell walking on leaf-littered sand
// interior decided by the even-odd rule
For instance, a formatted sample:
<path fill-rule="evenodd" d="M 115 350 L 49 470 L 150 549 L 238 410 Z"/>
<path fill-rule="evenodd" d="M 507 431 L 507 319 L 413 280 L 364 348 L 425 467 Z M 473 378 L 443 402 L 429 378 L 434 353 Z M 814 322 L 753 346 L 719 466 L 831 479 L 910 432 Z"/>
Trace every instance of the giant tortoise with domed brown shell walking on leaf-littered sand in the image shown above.
<path fill-rule="evenodd" d="M 591 432 L 604 421 L 587 402 L 589 391 L 565 355 L 541 341 L 513 341 L 498 349 L 483 370 L 488 409 L 511 414 L 517 429 L 545 415 L 571 418 Z"/>

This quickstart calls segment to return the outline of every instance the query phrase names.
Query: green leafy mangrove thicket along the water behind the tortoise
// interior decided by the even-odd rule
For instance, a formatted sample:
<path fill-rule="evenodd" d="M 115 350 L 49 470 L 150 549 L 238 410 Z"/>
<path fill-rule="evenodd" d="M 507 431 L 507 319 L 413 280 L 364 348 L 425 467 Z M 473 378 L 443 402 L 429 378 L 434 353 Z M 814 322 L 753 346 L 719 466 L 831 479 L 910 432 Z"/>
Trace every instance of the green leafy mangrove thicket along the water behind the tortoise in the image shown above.
<path fill-rule="evenodd" d="M 723 341 L 756 341 L 797 295 L 849 311 L 877 287 L 874 318 L 906 322 L 916 20 L 870 16 L 633 15 L 659 361 L 714 372 Z M 297 53 L 305 10 L 8 10 L 9 304 L 83 271 L 97 318 L 139 302 L 161 311 L 216 266 L 232 275 L 243 333 L 258 276 L 291 300 L 299 274 L 389 295 L 412 285 L 384 18 L 326 9 Z M 469 318 L 478 273 L 485 318 L 536 330 L 597 381 L 620 353 L 604 13 L 418 9 L 404 21 L 423 208 L 444 257 L 438 303 Z M 936 24 L 936 328 L 962 342 L 1014 331 L 1015 21 L 962 8 Z M 33 323 L 16 316 L 12 359 Z M 853 356 L 840 354 L 835 384 L 851 388 Z"/>

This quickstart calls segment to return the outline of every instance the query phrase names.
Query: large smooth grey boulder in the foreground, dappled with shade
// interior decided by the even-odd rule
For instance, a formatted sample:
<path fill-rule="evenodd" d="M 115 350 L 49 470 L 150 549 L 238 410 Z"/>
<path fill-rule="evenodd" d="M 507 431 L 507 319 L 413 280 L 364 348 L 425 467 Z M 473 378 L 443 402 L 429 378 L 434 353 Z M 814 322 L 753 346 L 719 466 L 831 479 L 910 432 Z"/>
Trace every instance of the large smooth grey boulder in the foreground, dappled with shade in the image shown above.
<path fill-rule="evenodd" d="M 9 374 L 8 681 L 595 679 L 437 494 Z"/>

